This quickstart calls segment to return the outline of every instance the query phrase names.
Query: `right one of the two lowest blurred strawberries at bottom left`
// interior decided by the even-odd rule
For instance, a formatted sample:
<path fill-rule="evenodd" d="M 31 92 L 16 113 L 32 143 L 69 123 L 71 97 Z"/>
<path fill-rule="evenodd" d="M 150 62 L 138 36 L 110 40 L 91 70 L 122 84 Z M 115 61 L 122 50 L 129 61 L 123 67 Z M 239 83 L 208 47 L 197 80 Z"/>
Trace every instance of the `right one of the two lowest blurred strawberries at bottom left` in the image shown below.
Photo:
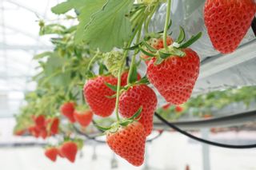
<path fill-rule="evenodd" d="M 78 152 L 78 145 L 72 141 L 65 142 L 61 147 L 61 154 L 65 156 L 70 162 L 74 162 L 75 156 Z"/>

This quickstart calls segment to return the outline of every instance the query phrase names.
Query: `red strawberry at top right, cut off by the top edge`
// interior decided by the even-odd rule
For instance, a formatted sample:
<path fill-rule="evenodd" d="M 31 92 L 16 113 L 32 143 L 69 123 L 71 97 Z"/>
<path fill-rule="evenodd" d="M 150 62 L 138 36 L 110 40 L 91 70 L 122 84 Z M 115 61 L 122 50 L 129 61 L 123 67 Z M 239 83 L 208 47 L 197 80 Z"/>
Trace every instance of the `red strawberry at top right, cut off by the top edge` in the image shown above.
<path fill-rule="evenodd" d="M 207 0 L 204 19 L 214 48 L 221 53 L 232 53 L 254 18 L 254 0 Z"/>

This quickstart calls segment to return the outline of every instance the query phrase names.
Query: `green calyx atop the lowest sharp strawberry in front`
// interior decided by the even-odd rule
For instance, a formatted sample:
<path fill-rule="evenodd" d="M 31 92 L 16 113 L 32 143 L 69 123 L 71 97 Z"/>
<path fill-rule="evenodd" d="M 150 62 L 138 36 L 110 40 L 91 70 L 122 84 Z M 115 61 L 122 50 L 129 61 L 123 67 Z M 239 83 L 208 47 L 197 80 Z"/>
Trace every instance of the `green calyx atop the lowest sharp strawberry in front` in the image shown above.
<path fill-rule="evenodd" d="M 95 127 L 102 130 L 103 132 L 114 133 L 117 132 L 119 128 L 126 127 L 133 123 L 134 121 L 138 121 L 140 119 L 142 113 L 142 106 L 138 109 L 136 113 L 130 118 L 121 119 L 118 122 L 114 122 L 114 124 L 110 125 L 110 127 L 102 127 L 94 123 Z"/>

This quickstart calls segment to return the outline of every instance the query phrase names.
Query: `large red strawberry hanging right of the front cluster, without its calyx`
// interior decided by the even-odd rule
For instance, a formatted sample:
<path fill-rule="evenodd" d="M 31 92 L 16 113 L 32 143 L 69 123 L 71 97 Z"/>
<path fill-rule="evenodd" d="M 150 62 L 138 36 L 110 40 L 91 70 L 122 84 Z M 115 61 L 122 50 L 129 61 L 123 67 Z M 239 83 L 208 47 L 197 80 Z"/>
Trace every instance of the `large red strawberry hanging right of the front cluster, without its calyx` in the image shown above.
<path fill-rule="evenodd" d="M 174 105 L 186 102 L 192 93 L 199 73 L 199 57 L 192 49 L 182 49 L 184 57 L 171 56 L 155 65 L 152 58 L 147 67 L 147 77 L 162 97 Z"/>

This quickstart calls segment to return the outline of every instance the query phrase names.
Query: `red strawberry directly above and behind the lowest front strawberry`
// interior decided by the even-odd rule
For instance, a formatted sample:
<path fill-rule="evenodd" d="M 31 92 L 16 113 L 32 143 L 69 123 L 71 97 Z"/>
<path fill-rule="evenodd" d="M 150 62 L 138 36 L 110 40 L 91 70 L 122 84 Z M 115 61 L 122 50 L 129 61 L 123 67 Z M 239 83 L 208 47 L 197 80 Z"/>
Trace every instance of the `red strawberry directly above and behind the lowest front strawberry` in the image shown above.
<path fill-rule="evenodd" d="M 158 99 L 153 89 L 147 85 L 134 85 L 120 96 L 119 113 L 122 117 L 132 117 L 142 106 L 139 122 L 144 126 L 148 136 L 153 128 L 153 116 L 157 104 Z"/>

